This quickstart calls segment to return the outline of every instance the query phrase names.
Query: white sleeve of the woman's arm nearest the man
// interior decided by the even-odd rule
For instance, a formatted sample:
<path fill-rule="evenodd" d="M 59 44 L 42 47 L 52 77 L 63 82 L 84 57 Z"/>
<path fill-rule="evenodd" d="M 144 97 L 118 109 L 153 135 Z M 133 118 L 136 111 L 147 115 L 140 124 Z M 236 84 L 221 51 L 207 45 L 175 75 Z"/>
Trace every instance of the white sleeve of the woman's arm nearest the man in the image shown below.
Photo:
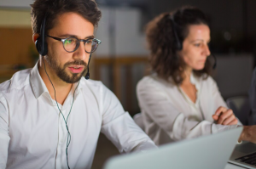
<path fill-rule="evenodd" d="M 166 93 L 155 87 L 153 83 L 139 83 L 137 98 L 141 109 L 175 141 L 196 138 L 236 127 L 236 125 L 223 126 L 210 121 L 189 119 L 182 112 L 176 110 Z"/>

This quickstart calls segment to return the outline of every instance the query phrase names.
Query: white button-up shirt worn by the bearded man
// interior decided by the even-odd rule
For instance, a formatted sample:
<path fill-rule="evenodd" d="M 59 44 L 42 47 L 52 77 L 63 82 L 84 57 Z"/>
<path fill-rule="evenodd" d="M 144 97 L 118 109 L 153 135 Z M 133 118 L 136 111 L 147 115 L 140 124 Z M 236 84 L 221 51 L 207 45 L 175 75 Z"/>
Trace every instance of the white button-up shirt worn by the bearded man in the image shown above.
<path fill-rule="evenodd" d="M 90 168 L 99 133 L 120 152 L 155 148 L 119 100 L 102 82 L 73 84 L 64 104 L 58 104 L 71 134 L 71 169 Z M 74 93 L 74 102 L 73 102 Z M 67 128 L 38 73 L 38 65 L 21 70 L 0 85 L 0 168 L 67 168 Z"/>

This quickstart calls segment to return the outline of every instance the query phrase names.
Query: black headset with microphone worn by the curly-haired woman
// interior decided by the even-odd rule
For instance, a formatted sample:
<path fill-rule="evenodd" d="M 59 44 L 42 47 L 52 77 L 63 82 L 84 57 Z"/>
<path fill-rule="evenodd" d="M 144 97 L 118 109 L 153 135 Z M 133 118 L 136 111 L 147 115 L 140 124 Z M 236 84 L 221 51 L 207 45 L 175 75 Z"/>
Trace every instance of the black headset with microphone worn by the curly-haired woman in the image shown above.
<path fill-rule="evenodd" d="M 171 25 L 172 25 L 172 32 L 173 32 L 173 36 L 174 36 L 174 47 L 175 49 L 177 49 L 177 51 L 180 51 L 183 49 L 183 43 L 180 42 L 178 36 L 177 36 L 177 30 L 176 30 L 176 26 L 175 26 L 175 22 L 174 22 L 174 19 L 173 19 L 173 15 L 169 15 L 169 19 L 171 20 Z M 211 54 L 213 59 L 214 59 L 214 64 L 212 65 L 212 69 L 214 70 L 217 66 L 217 59 L 215 57 L 214 54 Z"/>

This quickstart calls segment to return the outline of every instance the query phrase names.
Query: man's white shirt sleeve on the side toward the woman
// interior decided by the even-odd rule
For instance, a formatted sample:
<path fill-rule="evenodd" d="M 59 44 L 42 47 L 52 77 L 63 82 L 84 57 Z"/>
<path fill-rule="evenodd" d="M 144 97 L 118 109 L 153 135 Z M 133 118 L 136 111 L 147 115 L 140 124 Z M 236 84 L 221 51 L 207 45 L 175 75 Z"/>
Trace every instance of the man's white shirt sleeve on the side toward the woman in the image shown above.
<path fill-rule="evenodd" d="M 103 86 L 101 93 L 102 133 L 112 141 L 120 153 L 157 148 L 107 87 Z"/>

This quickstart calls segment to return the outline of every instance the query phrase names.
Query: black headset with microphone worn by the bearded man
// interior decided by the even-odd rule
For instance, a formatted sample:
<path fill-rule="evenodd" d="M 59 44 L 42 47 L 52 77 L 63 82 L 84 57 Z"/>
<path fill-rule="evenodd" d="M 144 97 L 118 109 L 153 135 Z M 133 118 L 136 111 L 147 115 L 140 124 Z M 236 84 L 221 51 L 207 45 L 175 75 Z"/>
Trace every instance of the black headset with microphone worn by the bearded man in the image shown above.
<path fill-rule="evenodd" d="M 40 28 L 40 37 L 38 37 L 37 41 L 35 42 L 36 48 L 38 50 L 38 53 L 43 56 L 45 56 L 48 53 L 48 44 L 45 41 L 45 22 L 46 22 L 47 14 L 44 16 L 44 20 L 41 24 Z M 91 54 L 90 54 L 91 57 Z M 84 76 L 86 80 L 90 78 L 90 72 L 89 72 L 89 64 L 90 64 L 90 57 L 87 65 L 87 73 Z"/>

